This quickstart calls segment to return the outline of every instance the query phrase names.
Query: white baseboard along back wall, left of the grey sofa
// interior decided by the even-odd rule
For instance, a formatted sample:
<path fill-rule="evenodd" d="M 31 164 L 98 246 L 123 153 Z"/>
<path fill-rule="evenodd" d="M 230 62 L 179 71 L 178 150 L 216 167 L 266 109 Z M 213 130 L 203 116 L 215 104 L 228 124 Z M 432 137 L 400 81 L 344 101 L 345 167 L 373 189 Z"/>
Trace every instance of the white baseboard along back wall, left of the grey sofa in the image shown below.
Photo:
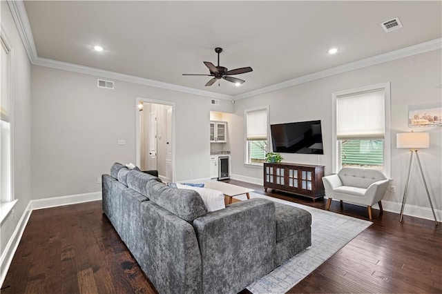
<path fill-rule="evenodd" d="M 92 192 L 92 193 L 84 193 L 84 194 L 75 194 L 75 195 L 67 195 L 67 196 L 59 196 L 59 197 L 50 197 L 50 198 L 42 198 L 42 199 L 34 199 L 30 201 L 30 208 L 32 210 L 41 209 L 41 208 L 50 208 L 55 206 L 63 206 L 70 204 L 77 204 L 83 202 L 91 202 L 102 199 L 102 192 Z"/>

